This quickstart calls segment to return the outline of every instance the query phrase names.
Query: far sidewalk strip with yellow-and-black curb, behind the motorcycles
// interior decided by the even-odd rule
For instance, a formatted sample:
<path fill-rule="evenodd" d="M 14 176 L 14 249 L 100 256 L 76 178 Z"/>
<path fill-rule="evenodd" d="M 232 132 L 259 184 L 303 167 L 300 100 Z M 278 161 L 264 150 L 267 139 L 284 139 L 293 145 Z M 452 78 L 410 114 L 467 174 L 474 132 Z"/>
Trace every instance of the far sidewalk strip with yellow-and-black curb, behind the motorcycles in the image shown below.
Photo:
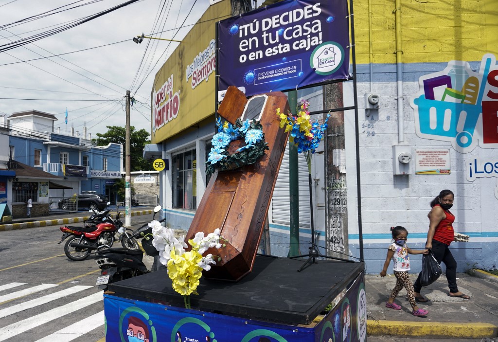
<path fill-rule="evenodd" d="M 120 209 L 122 218 L 124 220 L 124 208 Z M 112 214 L 116 214 L 116 211 L 111 211 Z M 153 213 L 153 207 L 134 207 L 131 209 L 131 216 L 137 215 L 147 215 Z M 13 230 L 13 229 L 24 229 L 24 228 L 33 228 L 33 227 L 47 227 L 47 226 L 55 226 L 55 225 L 68 225 L 72 223 L 83 222 L 84 220 L 88 220 L 90 218 L 90 213 L 88 211 L 85 212 L 76 212 L 76 213 L 64 213 L 43 217 L 35 217 L 35 218 L 23 218 L 12 220 L 12 222 L 1 223 L 0 231 L 3 230 Z M 124 221 L 123 221 L 124 222 Z"/>

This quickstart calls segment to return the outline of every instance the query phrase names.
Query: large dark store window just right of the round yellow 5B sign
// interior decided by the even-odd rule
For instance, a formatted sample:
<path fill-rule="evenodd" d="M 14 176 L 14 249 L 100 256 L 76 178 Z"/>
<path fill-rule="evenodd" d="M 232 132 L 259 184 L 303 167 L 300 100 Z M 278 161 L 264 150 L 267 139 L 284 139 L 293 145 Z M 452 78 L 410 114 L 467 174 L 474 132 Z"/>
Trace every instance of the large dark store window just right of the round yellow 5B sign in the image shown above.
<path fill-rule="evenodd" d="M 173 208 L 197 209 L 196 163 L 195 149 L 173 156 L 171 170 Z"/>

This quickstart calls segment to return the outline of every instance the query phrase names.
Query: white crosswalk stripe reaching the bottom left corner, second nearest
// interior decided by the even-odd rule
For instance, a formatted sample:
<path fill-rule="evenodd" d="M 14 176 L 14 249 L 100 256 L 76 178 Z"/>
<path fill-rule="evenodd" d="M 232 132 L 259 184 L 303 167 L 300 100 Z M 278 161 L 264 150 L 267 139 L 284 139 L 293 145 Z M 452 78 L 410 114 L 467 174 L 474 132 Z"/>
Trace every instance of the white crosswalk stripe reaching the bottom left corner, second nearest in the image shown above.
<path fill-rule="evenodd" d="M 0 328 L 0 341 L 8 340 L 11 337 L 16 336 L 17 334 L 24 333 L 25 331 L 41 326 L 42 324 L 68 315 L 74 311 L 80 310 L 94 303 L 100 302 L 103 299 L 104 292 L 99 291 L 97 293 L 94 293 L 93 295 L 78 299 L 77 301 Z"/>

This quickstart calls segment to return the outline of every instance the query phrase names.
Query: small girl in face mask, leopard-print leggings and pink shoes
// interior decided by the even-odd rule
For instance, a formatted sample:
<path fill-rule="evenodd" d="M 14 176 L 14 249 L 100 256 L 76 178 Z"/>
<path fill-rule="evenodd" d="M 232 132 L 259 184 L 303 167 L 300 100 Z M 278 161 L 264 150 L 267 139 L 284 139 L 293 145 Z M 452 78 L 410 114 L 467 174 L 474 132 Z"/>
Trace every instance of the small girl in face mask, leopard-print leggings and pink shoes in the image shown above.
<path fill-rule="evenodd" d="M 429 251 L 427 249 L 413 250 L 408 248 L 406 245 L 408 231 L 404 227 L 391 227 L 391 233 L 394 242 L 392 242 L 387 248 L 387 258 L 385 259 L 384 268 L 380 272 L 380 276 L 385 277 L 387 267 L 392 259 L 392 269 L 394 271 L 394 276 L 396 277 L 396 286 L 392 289 L 389 300 L 385 303 L 385 307 L 394 310 L 401 310 L 401 306 L 394 303 L 394 299 L 398 295 L 399 291 L 404 287 L 408 293 L 408 301 L 412 307 L 413 316 L 426 316 L 429 311 L 419 309 L 417 303 L 415 302 L 415 291 L 413 290 L 413 284 L 408 276 L 408 271 L 410 270 L 410 258 L 408 257 L 408 254 L 428 254 Z"/>

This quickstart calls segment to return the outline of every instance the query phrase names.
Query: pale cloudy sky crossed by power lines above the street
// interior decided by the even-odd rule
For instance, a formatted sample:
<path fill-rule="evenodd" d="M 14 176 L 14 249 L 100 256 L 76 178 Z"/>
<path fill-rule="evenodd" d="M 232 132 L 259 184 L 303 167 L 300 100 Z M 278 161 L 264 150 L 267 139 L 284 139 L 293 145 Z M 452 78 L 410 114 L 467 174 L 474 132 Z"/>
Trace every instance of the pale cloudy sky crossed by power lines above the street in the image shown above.
<path fill-rule="evenodd" d="M 181 40 L 209 7 L 209 0 L 138 0 L 62 32 L 3 50 L 12 41 L 128 1 L 0 0 L 0 121 L 2 116 L 36 110 L 57 117 L 55 130 L 60 127 L 61 132 L 74 130 L 81 135 L 86 126 L 93 138 L 105 133 L 108 125 L 125 125 L 124 96 L 129 90 L 137 101 L 131 107 L 130 124 L 150 133 L 152 82 L 178 43 L 144 39 L 136 44 L 132 38 L 145 33 Z M 51 15 L 38 16 L 47 11 Z M 46 58 L 54 55 L 60 56 Z"/>

